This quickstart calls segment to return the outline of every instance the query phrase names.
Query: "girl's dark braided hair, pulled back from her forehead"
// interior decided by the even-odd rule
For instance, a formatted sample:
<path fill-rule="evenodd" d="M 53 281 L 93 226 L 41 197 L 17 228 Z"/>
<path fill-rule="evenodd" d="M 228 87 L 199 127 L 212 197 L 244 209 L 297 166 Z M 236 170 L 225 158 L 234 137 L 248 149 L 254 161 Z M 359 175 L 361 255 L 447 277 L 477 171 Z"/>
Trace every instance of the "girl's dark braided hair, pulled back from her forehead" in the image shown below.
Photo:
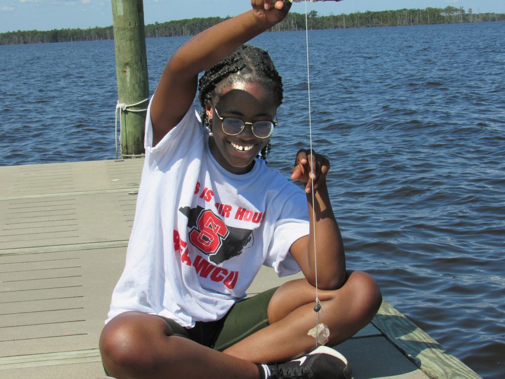
<path fill-rule="evenodd" d="M 256 82 L 271 88 L 276 106 L 282 104 L 282 78 L 277 72 L 268 52 L 252 45 L 242 45 L 229 56 L 205 71 L 198 81 L 198 100 L 203 109 L 200 112 L 204 126 L 212 128 L 206 112 L 208 102 L 215 103 L 221 90 L 237 81 Z M 266 161 L 270 152 L 270 141 L 262 149 L 259 158 Z"/>

